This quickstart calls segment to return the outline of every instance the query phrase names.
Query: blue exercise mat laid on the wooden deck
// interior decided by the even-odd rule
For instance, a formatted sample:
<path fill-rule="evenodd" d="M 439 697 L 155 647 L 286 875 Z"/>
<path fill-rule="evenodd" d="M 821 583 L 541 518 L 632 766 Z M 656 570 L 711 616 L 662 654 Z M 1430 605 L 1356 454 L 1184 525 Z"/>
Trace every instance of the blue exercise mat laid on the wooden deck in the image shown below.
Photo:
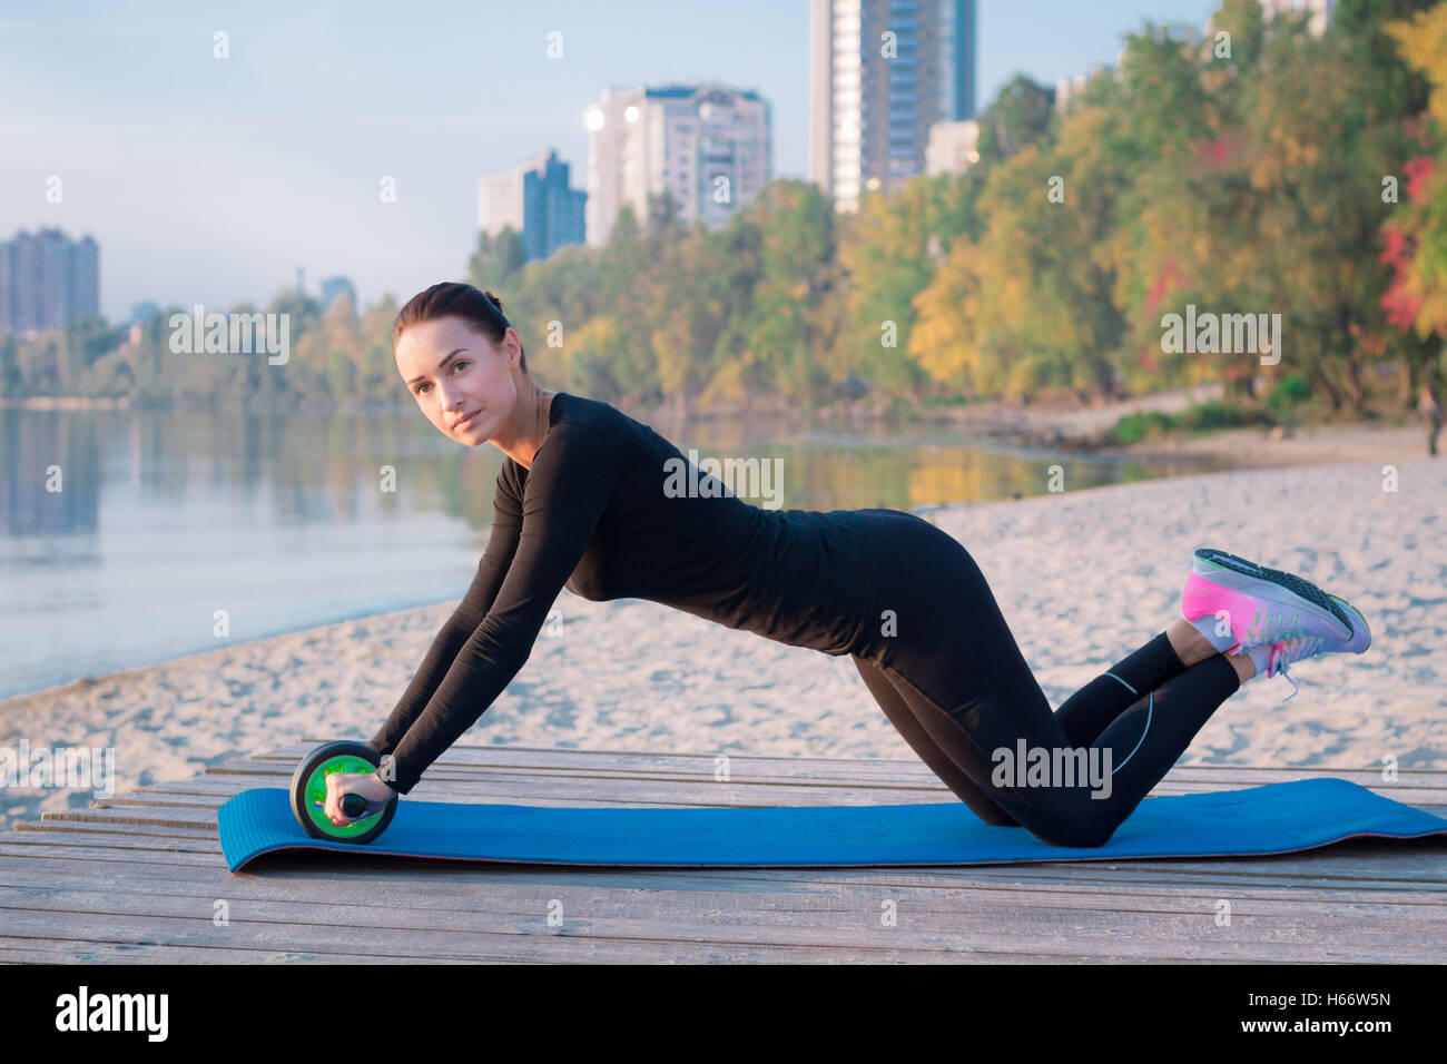
<path fill-rule="evenodd" d="M 1447 834 L 1447 819 L 1344 779 L 1145 799 L 1103 847 L 1058 847 L 985 824 L 961 802 L 765 808 L 550 808 L 398 799 L 363 845 L 313 838 L 278 788 L 243 790 L 218 811 L 232 871 L 275 850 L 615 867 L 868 867 L 1247 857 L 1360 835 Z"/>

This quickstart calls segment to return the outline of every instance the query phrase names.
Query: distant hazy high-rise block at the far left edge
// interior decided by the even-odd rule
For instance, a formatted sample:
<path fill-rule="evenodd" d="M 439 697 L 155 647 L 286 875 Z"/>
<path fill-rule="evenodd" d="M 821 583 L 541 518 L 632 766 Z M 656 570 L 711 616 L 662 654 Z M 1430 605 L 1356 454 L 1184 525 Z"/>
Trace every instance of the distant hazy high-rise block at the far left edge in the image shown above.
<path fill-rule="evenodd" d="M 65 329 L 82 314 L 100 314 L 96 240 L 42 229 L 0 243 L 0 332 Z"/>

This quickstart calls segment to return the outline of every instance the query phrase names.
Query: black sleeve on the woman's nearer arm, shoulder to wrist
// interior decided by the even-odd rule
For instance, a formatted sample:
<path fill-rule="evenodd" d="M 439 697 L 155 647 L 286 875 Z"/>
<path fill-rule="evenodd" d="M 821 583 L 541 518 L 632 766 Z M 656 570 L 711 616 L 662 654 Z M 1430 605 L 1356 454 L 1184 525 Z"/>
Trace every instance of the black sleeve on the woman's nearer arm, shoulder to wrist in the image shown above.
<path fill-rule="evenodd" d="M 522 524 L 508 575 L 425 709 L 396 743 L 394 790 L 408 793 L 527 663 L 618 479 L 614 443 L 605 433 L 577 421 L 548 433 L 524 478 Z"/>

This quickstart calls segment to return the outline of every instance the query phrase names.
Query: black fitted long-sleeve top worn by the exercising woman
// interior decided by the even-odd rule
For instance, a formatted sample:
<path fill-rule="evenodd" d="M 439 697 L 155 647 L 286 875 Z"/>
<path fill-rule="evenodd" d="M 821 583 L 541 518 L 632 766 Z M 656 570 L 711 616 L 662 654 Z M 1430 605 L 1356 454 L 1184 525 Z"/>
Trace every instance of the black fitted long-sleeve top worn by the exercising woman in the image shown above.
<path fill-rule="evenodd" d="M 648 426 L 557 392 L 532 468 L 502 463 L 467 595 L 369 746 L 408 793 L 528 660 L 564 586 L 849 653 L 875 583 L 865 512 L 750 505 Z"/>

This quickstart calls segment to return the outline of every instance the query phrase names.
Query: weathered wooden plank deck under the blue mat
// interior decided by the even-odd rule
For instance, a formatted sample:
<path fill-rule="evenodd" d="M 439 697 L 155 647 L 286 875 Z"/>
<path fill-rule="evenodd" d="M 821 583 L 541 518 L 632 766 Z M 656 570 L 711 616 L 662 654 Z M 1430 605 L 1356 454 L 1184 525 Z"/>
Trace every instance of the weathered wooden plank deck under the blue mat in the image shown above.
<path fill-rule="evenodd" d="M 365 853 L 230 873 L 217 806 L 328 737 L 0 834 L 0 960 L 101 963 L 1443 963 L 1447 840 L 1281 857 L 592 870 Z M 524 805 L 956 801 L 919 761 L 453 747 L 412 798 Z M 1447 815 L 1447 772 L 1176 767 L 1156 795 L 1341 776 Z M 408 801 L 408 799 L 402 799 Z M 556 899 L 556 900 L 554 900 Z M 1230 924 L 1218 925 L 1218 900 Z M 224 900 L 229 922 L 214 913 Z M 550 909 L 561 908 L 561 924 Z M 896 924 L 883 916 L 893 908 Z"/>

